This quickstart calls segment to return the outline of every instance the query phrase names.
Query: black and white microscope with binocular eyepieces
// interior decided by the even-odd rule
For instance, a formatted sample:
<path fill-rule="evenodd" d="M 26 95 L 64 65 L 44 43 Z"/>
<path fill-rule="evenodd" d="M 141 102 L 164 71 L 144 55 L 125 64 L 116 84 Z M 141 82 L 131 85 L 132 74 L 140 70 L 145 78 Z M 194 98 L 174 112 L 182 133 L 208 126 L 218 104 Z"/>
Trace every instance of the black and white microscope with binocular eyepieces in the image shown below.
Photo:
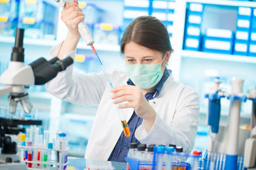
<path fill-rule="evenodd" d="M 18 103 L 21 103 L 26 114 L 31 113 L 33 106 L 26 92 L 28 86 L 46 84 L 56 77 L 58 72 L 73 64 L 71 57 L 65 57 L 63 60 L 54 57 L 49 61 L 41 57 L 31 64 L 24 64 L 23 35 L 24 30 L 17 28 L 11 61 L 8 69 L 0 77 L 0 83 L 4 84 L 4 86 L 0 86 L 0 97 L 9 94 L 10 115 L 16 113 Z M 14 119 L 12 116 L 11 118 L 0 118 L 0 169 L 26 169 L 26 164 L 19 163 L 19 158 L 16 155 L 16 142 L 12 142 L 11 137 L 7 135 L 18 135 L 19 132 L 25 132 L 20 125 L 41 124 L 41 120 Z"/>

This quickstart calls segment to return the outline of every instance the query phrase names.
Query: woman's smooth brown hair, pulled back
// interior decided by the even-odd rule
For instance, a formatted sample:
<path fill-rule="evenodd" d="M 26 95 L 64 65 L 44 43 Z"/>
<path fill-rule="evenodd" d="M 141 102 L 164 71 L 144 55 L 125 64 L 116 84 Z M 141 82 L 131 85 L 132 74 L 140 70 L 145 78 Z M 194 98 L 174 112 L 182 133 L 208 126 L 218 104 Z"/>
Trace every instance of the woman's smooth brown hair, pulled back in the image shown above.
<path fill-rule="evenodd" d="M 164 23 L 154 16 L 140 16 L 129 23 L 120 42 L 122 54 L 124 54 L 124 46 L 129 42 L 135 42 L 163 54 L 170 50 L 173 51 Z"/>

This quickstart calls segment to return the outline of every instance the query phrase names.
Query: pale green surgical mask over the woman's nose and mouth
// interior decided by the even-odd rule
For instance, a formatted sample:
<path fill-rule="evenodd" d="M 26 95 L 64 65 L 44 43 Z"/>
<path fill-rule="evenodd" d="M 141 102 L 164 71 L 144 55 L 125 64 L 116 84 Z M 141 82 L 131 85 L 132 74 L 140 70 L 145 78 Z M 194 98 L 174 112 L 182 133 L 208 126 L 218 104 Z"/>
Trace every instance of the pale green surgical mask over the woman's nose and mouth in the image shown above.
<path fill-rule="evenodd" d="M 151 89 L 163 77 L 161 63 L 164 59 L 159 64 L 125 64 L 125 72 L 136 86 Z"/>

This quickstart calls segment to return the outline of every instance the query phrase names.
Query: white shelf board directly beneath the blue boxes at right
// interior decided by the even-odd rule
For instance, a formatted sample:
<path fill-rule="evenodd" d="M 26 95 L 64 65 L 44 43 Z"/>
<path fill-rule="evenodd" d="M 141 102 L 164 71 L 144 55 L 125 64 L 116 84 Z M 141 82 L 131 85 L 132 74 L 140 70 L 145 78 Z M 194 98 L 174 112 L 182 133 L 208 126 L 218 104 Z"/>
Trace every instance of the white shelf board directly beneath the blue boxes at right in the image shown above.
<path fill-rule="evenodd" d="M 182 57 L 191 57 L 204 60 L 220 60 L 227 62 L 243 62 L 243 63 L 255 63 L 256 57 L 242 56 L 242 55 L 224 55 L 210 52 L 198 52 L 192 50 L 182 50 Z"/>

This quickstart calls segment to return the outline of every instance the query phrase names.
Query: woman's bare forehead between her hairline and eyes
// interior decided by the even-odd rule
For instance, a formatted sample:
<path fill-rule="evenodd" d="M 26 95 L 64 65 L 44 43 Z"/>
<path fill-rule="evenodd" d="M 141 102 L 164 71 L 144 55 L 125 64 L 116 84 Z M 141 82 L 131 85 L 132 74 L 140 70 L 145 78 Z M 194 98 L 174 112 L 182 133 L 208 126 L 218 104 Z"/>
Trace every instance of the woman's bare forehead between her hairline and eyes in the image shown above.
<path fill-rule="evenodd" d="M 138 45 L 135 42 L 129 42 L 124 46 L 124 57 L 162 57 L 161 52 L 151 50 L 147 47 L 143 47 L 142 45 Z"/>

